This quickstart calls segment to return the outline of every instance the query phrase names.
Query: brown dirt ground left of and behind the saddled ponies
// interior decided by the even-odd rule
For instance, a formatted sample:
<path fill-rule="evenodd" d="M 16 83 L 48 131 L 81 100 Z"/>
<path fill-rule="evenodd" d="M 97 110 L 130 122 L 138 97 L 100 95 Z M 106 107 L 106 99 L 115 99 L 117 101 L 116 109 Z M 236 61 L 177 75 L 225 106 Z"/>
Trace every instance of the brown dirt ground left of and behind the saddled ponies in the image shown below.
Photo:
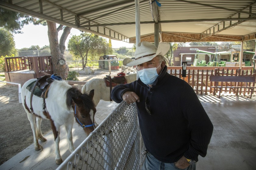
<path fill-rule="evenodd" d="M 78 70 L 76 70 L 78 71 Z M 116 76 L 121 70 L 111 72 Z M 93 78 L 104 78 L 107 71 L 98 71 L 85 75 L 79 71 L 80 81 L 89 81 Z M 76 86 L 79 89 L 82 86 Z M 18 86 L 0 82 L 0 165 L 18 154 L 33 143 L 33 133 L 27 114 L 19 103 Z M 51 131 L 50 121 L 43 119 L 41 123 L 42 134 Z"/>

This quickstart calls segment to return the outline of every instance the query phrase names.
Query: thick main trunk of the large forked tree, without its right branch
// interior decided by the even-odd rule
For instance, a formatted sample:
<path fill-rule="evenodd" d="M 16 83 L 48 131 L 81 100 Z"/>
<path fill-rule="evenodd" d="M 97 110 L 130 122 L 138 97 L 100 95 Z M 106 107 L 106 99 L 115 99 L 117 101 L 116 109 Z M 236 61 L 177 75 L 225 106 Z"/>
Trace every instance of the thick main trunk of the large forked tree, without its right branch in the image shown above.
<path fill-rule="evenodd" d="M 66 80 L 69 73 L 69 67 L 67 63 L 65 63 L 64 65 L 59 64 L 59 60 L 64 59 L 64 54 L 60 50 L 56 24 L 53 22 L 47 21 L 47 25 L 48 25 L 48 38 L 50 43 L 51 55 L 52 55 L 53 72 L 57 73 L 58 76 L 62 77 L 63 80 Z"/>

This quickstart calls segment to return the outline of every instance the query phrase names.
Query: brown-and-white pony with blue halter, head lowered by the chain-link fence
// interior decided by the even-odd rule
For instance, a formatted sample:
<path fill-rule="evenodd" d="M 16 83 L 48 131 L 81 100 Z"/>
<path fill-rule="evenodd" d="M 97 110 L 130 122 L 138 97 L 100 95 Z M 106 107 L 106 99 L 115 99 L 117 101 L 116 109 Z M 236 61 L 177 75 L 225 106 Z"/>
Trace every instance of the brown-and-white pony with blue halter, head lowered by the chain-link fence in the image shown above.
<path fill-rule="evenodd" d="M 65 125 L 66 127 L 70 152 L 74 151 L 72 136 L 74 117 L 76 117 L 76 122 L 84 128 L 87 135 L 95 129 L 94 114 L 96 108 L 92 100 L 94 90 L 89 95 L 82 94 L 65 80 L 54 80 L 49 87 L 47 98 L 45 99 L 45 109 L 43 109 L 43 98 L 33 95 L 32 107 L 34 112 L 32 113 L 30 110 L 31 92 L 27 90 L 27 86 L 35 80 L 37 79 L 28 80 L 21 89 L 22 104 L 27 112 L 27 117 L 34 135 L 34 147 L 35 150 L 41 149 L 38 138 L 41 141 L 46 141 L 46 138 L 41 133 L 41 121 L 42 118 L 49 119 L 55 138 L 55 161 L 56 164 L 61 164 L 62 158 L 59 150 L 60 126 Z"/>

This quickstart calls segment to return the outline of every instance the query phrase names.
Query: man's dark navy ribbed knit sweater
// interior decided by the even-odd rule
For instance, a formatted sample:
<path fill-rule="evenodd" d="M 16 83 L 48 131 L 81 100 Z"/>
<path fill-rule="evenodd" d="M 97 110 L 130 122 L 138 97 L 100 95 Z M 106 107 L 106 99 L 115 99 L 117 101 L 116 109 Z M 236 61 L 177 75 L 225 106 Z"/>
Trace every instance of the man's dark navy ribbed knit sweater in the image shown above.
<path fill-rule="evenodd" d="M 140 97 L 137 104 L 140 131 L 149 153 L 159 161 L 173 163 L 183 155 L 198 161 L 206 156 L 213 125 L 194 89 L 184 80 L 167 73 L 167 66 L 148 87 L 140 79 L 113 88 L 111 98 L 120 103 L 126 91 Z M 145 109 L 148 98 L 151 115 Z"/>

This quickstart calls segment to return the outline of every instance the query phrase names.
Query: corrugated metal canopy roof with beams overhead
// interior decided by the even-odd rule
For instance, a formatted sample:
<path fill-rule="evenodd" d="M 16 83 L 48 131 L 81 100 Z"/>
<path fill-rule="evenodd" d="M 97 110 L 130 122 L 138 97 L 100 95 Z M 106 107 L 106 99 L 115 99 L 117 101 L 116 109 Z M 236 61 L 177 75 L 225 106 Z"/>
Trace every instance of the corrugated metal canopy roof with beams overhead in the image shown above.
<path fill-rule="evenodd" d="M 152 3 L 153 2 L 153 3 Z M 255 0 L 140 0 L 141 41 L 256 39 Z M 0 0 L 0 7 L 126 42 L 136 41 L 134 0 Z M 129 39 L 129 41 L 127 41 Z"/>

